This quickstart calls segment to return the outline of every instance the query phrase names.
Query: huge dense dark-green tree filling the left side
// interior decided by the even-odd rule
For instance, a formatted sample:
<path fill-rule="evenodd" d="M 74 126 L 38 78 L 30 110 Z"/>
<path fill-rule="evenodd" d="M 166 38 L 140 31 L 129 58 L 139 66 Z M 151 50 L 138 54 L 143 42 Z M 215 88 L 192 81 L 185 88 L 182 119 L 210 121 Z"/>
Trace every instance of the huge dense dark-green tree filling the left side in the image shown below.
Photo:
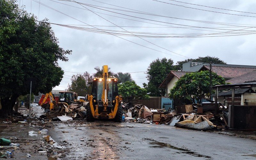
<path fill-rule="evenodd" d="M 0 10 L 0 117 L 5 117 L 16 99 L 29 93 L 28 77 L 36 78 L 34 95 L 59 85 L 64 71 L 58 60 L 68 61 L 65 55 L 72 51 L 59 47 L 47 20 L 36 23 L 14 0 L 1 0 Z"/>

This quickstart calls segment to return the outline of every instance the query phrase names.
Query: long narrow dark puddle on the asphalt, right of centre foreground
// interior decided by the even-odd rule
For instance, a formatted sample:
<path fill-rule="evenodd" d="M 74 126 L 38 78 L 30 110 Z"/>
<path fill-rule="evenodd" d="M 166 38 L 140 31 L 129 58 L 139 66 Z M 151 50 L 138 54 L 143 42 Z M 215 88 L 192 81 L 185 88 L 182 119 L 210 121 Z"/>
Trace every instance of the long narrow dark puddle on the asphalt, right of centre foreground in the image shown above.
<path fill-rule="evenodd" d="M 149 142 L 149 144 L 153 145 L 153 146 L 149 146 L 150 148 L 165 148 L 166 147 L 166 148 L 172 148 L 172 149 L 180 150 L 181 153 L 189 154 L 189 155 L 196 156 L 196 157 L 211 158 L 210 156 L 201 155 L 201 154 L 198 154 L 196 152 L 192 152 L 189 149 L 175 147 L 175 146 L 172 146 L 168 143 L 158 142 L 158 141 L 152 140 L 152 139 L 146 139 L 146 140 L 151 140 L 152 141 L 152 142 Z"/>

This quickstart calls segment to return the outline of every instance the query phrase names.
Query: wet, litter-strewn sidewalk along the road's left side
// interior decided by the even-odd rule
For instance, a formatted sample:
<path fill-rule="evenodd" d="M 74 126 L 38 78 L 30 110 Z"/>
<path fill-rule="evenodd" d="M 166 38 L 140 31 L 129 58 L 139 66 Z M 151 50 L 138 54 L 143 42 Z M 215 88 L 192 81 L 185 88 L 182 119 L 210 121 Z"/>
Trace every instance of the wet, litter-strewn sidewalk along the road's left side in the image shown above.
<path fill-rule="evenodd" d="M 12 118 L 0 119 L 0 138 L 10 139 L 11 143 L 19 143 L 20 147 L 0 146 L 0 152 L 10 151 L 14 159 L 48 159 L 44 140 L 39 134 L 39 125 L 36 120 L 38 118 L 34 110 L 40 107 L 31 107 L 30 126 L 28 123 L 19 123 L 18 121 L 28 121 L 28 109 L 25 107 L 19 108 L 19 112 L 24 117 L 17 116 Z M 39 110 L 38 110 L 39 111 Z M 37 113 L 39 113 L 36 111 Z M 41 111 L 43 112 L 43 111 Z M 17 138 L 17 139 L 16 139 Z M 43 152 L 43 153 L 40 153 Z M 30 154 L 28 158 L 26 154 Z"/>

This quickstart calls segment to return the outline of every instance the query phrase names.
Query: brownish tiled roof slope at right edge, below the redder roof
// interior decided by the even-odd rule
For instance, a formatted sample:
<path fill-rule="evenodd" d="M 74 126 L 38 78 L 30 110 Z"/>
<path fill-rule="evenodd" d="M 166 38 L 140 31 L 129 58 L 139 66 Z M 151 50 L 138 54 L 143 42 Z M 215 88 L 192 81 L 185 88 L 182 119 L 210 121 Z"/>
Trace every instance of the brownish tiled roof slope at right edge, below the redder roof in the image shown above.
<path fill-rule="evenodd" d="M 242 76 L 237 76 L 235 78 L 229 79 L 227 83 L 245 83 L 245 82 L 256 82 L 256 69 L 254 71 L 245 73 Z"/>

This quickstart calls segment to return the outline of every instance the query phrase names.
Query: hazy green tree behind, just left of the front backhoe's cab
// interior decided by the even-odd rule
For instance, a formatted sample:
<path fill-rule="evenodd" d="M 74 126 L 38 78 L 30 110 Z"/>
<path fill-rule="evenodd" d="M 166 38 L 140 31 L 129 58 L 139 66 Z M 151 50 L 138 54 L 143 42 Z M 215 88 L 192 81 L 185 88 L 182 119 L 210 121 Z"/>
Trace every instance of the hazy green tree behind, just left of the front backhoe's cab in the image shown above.
<path fill-rule="evenodd" d="M 92 92 L 92 76 L 88 72 L 84 74 L 73 75 L 71 78 L 71 84 L 68 84 L 68 91 L 77 92 L 78 96 L 86 96 Z"/>

